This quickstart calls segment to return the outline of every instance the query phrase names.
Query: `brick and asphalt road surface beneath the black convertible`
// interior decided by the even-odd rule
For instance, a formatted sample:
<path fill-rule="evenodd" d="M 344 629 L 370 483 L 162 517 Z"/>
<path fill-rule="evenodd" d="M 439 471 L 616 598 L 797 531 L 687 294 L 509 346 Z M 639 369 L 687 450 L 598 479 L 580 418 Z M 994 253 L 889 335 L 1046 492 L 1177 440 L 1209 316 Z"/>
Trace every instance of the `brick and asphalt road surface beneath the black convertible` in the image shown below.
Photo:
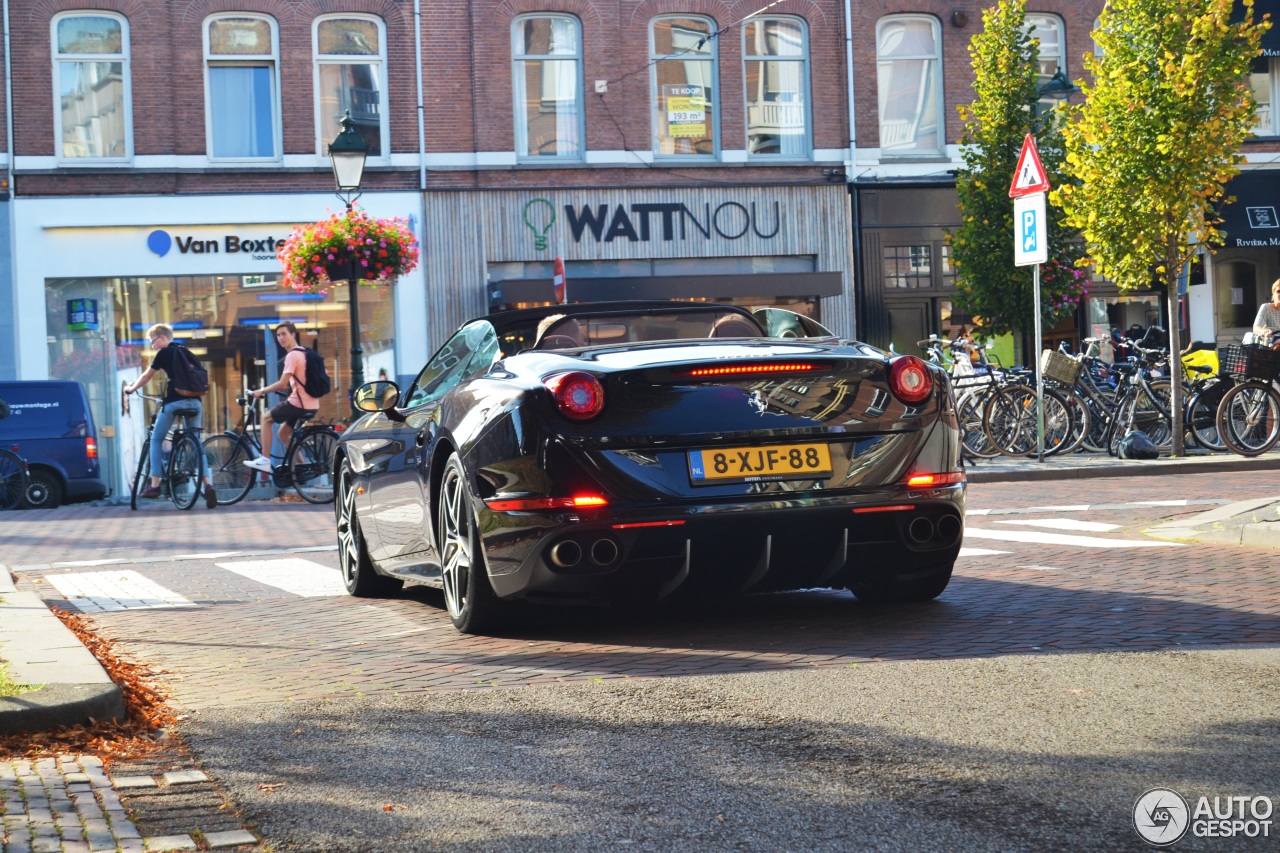
<path fill-rule="evenodd" d="M 52 603 L 77 574 L 184 598 L 92 617 L 165 672 L 195 758 L 275 852 L 1147 849 L 1149 789 L 1280 804 L 1274 552 L 1142 533 L 1272 480 L 978 484 L 937 602 L 541 611 L 495 638 L 457 635 L 430 590 L 326 590 L 312 507 L 113 540 L 106 567 L 13 547 Z M 99 542 L 120 524 L 73 521 Z M 175 549 L 198 537 L 312 549 Z M 1268 820 L 1175 849 L 1280 849 Z"/>

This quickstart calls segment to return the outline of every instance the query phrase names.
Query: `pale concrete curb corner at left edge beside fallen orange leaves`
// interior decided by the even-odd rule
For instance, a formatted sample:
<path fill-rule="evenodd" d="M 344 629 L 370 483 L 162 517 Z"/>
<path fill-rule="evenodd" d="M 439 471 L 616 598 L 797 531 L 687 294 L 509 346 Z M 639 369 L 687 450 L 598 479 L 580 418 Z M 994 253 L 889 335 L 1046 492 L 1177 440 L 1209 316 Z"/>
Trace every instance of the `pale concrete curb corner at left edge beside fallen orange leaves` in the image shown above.
<path fill-rule="evenodd" d="M 0 734 L 38 731 L 95 720 L 123 720 L 124 697 L 79 638 L 35 593 L 18 592 L 0 565 L 0 660 L 18 684 L 40 685 L 0 697 Z"/>

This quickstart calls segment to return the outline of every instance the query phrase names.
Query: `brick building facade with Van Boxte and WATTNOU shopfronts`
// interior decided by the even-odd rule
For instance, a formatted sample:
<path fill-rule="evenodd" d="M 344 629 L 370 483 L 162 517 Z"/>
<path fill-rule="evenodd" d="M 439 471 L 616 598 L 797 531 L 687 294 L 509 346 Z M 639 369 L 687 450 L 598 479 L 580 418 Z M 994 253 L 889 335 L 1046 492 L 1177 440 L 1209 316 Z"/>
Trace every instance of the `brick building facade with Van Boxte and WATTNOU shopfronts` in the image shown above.
<path fill-rule="evenodd" d="M 332 360 L 340 414 L 346 288 L 280 291 L 273 246 L 340 205 L 325 150 L 343 110 L 372 146 L 361 204 L 410 219 L 424 250 L 361 293 L 369 377 L 416 371 L 470 316 L 550 301 L 557 257 L 573 301 L 783 305 L 900 350 L 952 320 L 955 108 L 984 3 L 3 5 L 0 377 L 84 382 L 119 471 L 140 421 L 118 391 L 152 321 L 211 362 L 209 428 L 273 375 L 280 319 Z M 1101 8 L 1030 4 L 1070 78 Z M 1258 168 L 1275 136 L 1251 143 Z M 1263 289 L 1280 268 L 1245 260 Z M 72 298 L 97 302 L 97 329 L 68 328 Z"/>

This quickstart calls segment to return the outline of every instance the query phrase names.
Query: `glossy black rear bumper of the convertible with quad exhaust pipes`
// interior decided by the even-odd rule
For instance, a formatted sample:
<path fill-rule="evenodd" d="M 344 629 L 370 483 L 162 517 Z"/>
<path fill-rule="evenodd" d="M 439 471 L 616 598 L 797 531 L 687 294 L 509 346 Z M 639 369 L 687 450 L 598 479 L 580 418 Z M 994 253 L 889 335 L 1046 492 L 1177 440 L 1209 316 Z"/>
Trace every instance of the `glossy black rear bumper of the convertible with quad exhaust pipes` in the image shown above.
<path fill-rule="evenodd" d="M 494 590 L 563 602 L 744 593 L 908 579 L 950 566 L 964 487 L 678 510 L 493 514 L 481 520 Z M 521 517 L 512 517 L 521 516 Z"/>

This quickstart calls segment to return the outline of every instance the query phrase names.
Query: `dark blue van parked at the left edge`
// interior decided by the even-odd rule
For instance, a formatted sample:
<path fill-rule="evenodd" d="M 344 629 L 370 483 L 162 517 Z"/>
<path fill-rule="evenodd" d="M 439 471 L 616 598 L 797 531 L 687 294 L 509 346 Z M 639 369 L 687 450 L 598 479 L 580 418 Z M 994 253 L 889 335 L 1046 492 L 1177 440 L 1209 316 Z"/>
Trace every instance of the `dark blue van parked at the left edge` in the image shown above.
<path fill-rule="evenodd" d="M 9 416 L 0 420 L 0 447 L 27 460 L 31 485 L 26 507 L 52 508 L 65 501 L 106 494 L 97 459 L 97 429 L 78 382 L 0 382 Z"/>

